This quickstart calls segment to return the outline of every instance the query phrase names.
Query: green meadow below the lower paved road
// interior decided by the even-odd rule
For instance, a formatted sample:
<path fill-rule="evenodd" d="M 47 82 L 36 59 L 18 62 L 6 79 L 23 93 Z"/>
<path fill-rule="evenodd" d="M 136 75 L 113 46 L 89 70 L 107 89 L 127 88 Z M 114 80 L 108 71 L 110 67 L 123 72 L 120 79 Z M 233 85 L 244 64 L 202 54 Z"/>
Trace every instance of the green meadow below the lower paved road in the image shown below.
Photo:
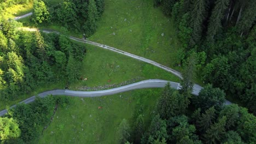
<path fill-rule="evenodd" d="M 123 118 L 131 125 L 133 115 L 139 112 L 149 125 L 160 94 L 158 88 L 98 98 L 72 98 L 74 104 L 57 110 L 38 143 L 117 143 L 117 127 Z M 103 108 L 98 110 L 98 106 Z"/>

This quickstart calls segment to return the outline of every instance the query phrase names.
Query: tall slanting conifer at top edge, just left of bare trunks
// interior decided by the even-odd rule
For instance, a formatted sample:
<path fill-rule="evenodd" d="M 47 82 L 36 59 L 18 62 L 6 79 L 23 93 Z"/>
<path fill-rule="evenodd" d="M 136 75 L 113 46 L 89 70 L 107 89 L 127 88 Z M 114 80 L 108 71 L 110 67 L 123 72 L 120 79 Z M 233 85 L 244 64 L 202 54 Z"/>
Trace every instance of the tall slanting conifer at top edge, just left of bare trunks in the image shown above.
<path fill-rule="evenodd" d="M 207 41 L 213 42 L 214 35 L 216 35 L 220 28 L 222 28 L 222 19 L 224 12 L 228 8 L 229 0 L 218 0 L 215 2 L 215 7 L 212 10 L 212 15 L 208 24 Z"/>

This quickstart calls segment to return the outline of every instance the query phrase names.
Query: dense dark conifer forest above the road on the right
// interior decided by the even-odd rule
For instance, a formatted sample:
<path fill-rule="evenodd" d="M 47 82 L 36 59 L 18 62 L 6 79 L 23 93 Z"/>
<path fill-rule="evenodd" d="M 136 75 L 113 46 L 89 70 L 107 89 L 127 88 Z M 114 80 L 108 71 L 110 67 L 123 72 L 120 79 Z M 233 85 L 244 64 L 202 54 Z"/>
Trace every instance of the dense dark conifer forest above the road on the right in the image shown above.
<path fill-rule="evenodd" d="M 256 114 L 255 1 L 154 0 L 154 3 L 172 16 L 177 27 L 184 50 L 177 63 L 184 62 L 193 52 L 201 56 L 205 53 L 197 77 L 240 99 Z M 201 63 L 202 59 L 198 60 Z"/>

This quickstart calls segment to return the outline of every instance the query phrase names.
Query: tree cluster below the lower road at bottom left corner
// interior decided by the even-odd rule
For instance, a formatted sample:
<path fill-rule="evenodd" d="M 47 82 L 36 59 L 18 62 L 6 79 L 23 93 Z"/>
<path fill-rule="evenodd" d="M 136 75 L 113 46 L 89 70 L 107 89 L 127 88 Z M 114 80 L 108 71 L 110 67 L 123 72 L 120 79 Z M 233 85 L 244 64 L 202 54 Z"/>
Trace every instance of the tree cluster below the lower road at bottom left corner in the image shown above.
<path fill-rule="evenodd" d="M 0 117 L 0 143 L 37 143 L 58 106 L 71 103 L 69 97 L 36 98 L 31 104 L 18 104 Z"/>

